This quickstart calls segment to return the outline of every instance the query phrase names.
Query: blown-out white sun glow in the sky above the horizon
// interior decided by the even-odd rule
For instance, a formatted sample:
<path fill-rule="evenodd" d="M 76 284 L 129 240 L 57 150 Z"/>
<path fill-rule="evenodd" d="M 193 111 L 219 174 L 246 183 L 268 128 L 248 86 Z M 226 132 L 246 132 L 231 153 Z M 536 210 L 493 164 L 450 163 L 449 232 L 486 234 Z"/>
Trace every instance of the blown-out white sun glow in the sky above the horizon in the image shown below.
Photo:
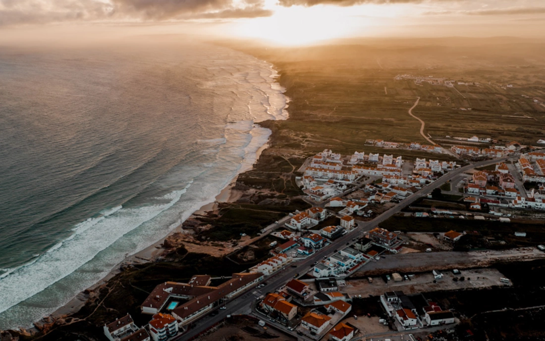
<path fill-rule="evenodd" d="M 360 25 L 361 26 L 361 20 Z M 235 34 L 280 45 L 306 45 L 353 33 L 352 20 L 338 8 L 279 8 L 274 15 L 240 22 Z"/>

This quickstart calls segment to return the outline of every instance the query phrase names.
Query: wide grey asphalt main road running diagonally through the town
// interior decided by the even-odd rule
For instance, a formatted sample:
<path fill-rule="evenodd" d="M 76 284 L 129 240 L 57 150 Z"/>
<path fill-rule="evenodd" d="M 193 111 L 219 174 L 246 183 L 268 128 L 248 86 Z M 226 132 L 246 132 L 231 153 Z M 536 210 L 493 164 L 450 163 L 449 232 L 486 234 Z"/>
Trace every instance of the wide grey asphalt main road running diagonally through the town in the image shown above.
<path fill-rule="evenodd" d="M 262 295 L 261 293 L 274 292 L 276 289 L 280 288 L 283 284 L 286 284 L 288 280 L 294 277 L 298 277 L 299 274 L 302 275 L 304 273 L 307 273 L 311 269 L 311 266 L 312 267 L 314 266 L 314 262 L 318 262 L 324 256 L 334 253 L 336 249 L 340 249 L 346 246 L 347 243 L 352 242 L 353 238 L 360 237 L 361 235 L 364 234 L 364 232 L 384 222 L 384 220 L 400 212 L 404 207 L 407 207 L 410 204 L 413 204 L 413 202 L 415 202 L 417 199 L 432 193 L 432 191 L 435 188 L 439 188 L 445 182 L 452 180 L 457 175 L 465 171 L 468 171 L 470 169 L 473 169 L 476 167 L 493 165 L 495 163 L 506 161 L 507 159 L 509 158 L 504 157 L 499 159 L 480 161 L 474 164 L 469 164 L 469 165 L 460 167 L 456 170 L 446 173 L 445 175 L 438 178 L 436 181 L 425 186 L 424 188 L 420 189 L 414 194 L 408 196 L 407 198 L 399 202 L 396 206 L 380 214 L 373 220 L 370 220 L 369 222 L 360 222 L 358 224 L 358 227 L 355 228 L 354 230 L 348 232 L 347 234 L 341 236 L 340 238 L 337 238 L 337 240 L 335 240 L 328 246 L 318 250 L 313 255 L 308 256 L 307 259 L 297 262 L 296 267 L 287 266 L 283 268 L 283 270 L 280 270 L 272 274 L 268 278 L 265 278 L 265 280 L 267 281 L 267 285 L 265 285 L 263 288 L 256 289 L 255 287 L 252 287 L 251 289 L 244 292 L 244 294 L 242 294 L 241 296 L 238 296 L 237 298 L 234 298 L 234 300 L 229 301 L 227 303 L 227 309 L 218 310 L 220 313 L 217 314 L 216 316 L 210 316 L 210 315 L 204 316 L 200 320 L 194 322 L 189 331 L 187 331 L 186 333 L 182 334 L 181 336 L 177 338 L 174 338 L 174 340 L 189 340 L 197 336 L 199 333 L 207 330 L 210 326 L 213 326 L 217 322 L 220 322 L 221 320 L 225 319 L 227 315 L 232 315 L 235 313 L 250 312 L 252 305 L 256 303 L 256 298 Z M 257 295 L 254 294 L 256 290 L 258 291 Z M 301 338 L 301 336 L 296 335 L 294 332 L 288 332 L 288 333 L 293 334 L 294 336 L 298 338 Z"/>

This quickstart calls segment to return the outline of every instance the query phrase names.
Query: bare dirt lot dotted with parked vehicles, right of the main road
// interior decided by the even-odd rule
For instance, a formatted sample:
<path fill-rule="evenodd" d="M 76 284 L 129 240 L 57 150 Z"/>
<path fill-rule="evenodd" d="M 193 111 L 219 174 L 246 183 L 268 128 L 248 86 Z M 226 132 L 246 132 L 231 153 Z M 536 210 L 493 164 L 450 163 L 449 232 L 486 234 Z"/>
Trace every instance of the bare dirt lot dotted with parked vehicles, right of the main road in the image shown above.
<path fill-rule="evenodd" d="M 500 282 L 500 278 L 505 277 L 501 272 L 494 268 L 481 268 L 471 270 L 461 270 L 461 274 L 455 275 L 451 271 L 440 271 L 443 278 L 435 279 L 431 272 L 415 274 L 408 277 L 410 280 L 393 282 L 389 280 L 384 282 L 382 277 L 372 277 L 373 283 L 367 279 L 347 280 L 346 286 L 340 290 L 349 295 L 383 295 L 385 291 L 403 291 L 405 294 L 417 294 L 419 292 L 437 291 L 437 290 L 457 290 L 457 289 L 476 289 L 489 288 L 493 285 L 510 285 Z M 464 277 L 464 280 L 459 280 Z M 457 278 L 457 282 L 453 280 Z M 469 278 L 469 279 L 468 279 Z M 436 280 L 437 283 L 433 283 Z"/>

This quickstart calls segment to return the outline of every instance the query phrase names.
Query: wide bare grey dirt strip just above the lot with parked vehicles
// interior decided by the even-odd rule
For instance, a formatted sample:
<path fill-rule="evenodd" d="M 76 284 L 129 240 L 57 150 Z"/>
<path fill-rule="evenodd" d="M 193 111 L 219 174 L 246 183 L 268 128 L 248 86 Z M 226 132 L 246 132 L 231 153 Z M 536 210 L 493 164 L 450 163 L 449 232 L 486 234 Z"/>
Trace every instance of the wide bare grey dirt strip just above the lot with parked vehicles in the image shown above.
<path fill-rule="evenodd" d="M 545 253 L 536 248 L 517 248 L 503 251 L 482 250 L 471 252 L 431 252 L 386 255 L 379 261 L 372 261 L 354 277 L 374 274 L 401 272 L 423 272 L 449 270 L 453 268 L 487 267 L 496 261 L 528 261 L 545 258 Z"/>

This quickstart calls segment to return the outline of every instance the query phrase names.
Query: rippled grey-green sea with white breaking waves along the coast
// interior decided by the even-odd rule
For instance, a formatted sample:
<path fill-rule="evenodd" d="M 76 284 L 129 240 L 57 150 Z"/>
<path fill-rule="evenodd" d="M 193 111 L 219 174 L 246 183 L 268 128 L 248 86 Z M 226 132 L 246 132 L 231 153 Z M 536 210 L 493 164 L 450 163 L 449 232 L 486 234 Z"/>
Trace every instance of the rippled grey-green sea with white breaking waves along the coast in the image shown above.
<path fill-rule="evenodd" d="M 203 43 L 0 49 L 0 329 L 30 327 L 213 202 L 287 99 Z"/>

